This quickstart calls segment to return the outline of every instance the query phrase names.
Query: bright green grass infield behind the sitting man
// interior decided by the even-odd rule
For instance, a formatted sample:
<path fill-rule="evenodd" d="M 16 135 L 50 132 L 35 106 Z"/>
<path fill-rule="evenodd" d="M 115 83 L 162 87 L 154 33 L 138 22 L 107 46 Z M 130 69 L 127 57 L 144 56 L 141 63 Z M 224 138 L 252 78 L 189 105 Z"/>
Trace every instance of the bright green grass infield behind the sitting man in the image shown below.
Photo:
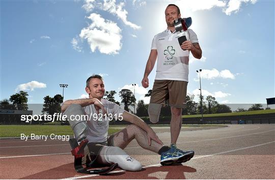
<path fill-rule="evenodd" d="M 108 133 L 114 134 L 120 129 L 109 128 Z M 0 137 L 20 137 L 21 134 L 25 135 L 73 135 L 70 126 L 54 126 L 54 125 L 1 125 Z"/>

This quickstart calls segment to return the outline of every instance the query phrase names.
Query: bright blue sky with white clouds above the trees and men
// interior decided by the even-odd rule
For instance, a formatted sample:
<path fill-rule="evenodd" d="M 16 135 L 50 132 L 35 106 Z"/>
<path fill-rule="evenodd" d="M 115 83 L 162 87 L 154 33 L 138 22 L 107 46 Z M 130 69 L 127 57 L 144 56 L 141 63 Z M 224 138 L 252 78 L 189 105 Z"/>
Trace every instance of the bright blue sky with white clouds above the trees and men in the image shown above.
<path fill-rule="evenodd" d="M 141 87 L 152 38 L 166 29 L 164 10 L 176 4 L 203 50 L 190 53 L 188 93 L 219 103 L 266 103 L 274 97 L 273 1 L 1 1 L 1 94 L 9 99 L 27 91 L 29 103 L 47 95 L 85 97 L 85 82 L 102 74 L 106 91 Z M 120 101 L 118 94 L 116 99 Z"/>

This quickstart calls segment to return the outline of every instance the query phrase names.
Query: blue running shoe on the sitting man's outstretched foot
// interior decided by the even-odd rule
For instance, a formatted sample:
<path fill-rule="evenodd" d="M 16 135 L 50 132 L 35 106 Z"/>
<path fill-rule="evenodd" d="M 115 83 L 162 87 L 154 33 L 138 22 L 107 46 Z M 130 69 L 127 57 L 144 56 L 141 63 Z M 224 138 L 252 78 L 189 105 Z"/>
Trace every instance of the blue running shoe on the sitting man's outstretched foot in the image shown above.
<path fill-rule="evenodd" d="M 167 152 L 161 154 L 160 164 L 162 166 L 171 165 L 173 163 L 177 163 L 177 161 L 182 159 L 184 156 L 185 154 L 183 154 L 182 151 L 179 151 L 175 144 L 171 144 L 170 149 Z"/>

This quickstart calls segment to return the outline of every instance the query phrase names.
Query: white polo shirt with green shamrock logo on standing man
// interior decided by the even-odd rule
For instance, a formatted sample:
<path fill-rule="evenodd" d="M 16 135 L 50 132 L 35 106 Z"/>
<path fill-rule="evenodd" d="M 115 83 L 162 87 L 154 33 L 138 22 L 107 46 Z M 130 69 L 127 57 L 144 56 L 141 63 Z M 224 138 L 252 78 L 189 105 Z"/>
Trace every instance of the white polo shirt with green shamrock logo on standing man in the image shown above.
<path fill-rule="evenodd" d="M 192 29 L 187 29 L 191 43 L 199 43 Z M 169 29 L 154 36 L 151 49 L 157 50 L 157 80 L 179 80 L 188 82 L 189 51 L 182 50 L 176 31 Z"/>

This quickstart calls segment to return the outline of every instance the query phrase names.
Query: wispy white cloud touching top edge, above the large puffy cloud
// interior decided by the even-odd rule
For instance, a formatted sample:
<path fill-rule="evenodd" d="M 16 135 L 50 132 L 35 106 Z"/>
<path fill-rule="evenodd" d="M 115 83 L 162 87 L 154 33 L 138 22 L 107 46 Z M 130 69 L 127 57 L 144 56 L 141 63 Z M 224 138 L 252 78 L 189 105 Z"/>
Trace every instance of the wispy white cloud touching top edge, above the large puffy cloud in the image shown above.
<path fill-rule="evenodd" d="M 120 18 L 126 25 L 132 27 L 133 29 L 140 29 L 141 26 L 136 25 L 127 20 L 128 12 L 124 9 L 125 3 L 120 2 L 116 4 L 116 0 L 106 1 L 104 0 L 103 4 L 102 1 L 91 1 L 86 0 L 85 5 L 82 6 L 87 12 L 91 12 L 93 9 L 98 8 L 103 11 L 107 11 L 113 15 L 116 15 Z"/>

